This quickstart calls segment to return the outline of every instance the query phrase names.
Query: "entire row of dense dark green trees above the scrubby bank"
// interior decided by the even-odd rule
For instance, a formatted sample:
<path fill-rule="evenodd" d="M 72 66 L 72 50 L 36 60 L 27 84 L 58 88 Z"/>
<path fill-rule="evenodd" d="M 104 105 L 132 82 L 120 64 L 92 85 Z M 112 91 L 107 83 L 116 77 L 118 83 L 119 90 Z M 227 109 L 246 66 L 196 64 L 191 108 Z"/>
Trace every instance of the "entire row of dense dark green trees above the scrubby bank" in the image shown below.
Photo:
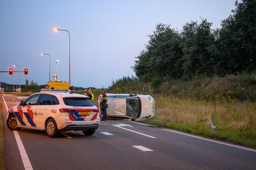
<path fill-rule="evenodd" d="M 236 9 L 221 22 L 186 23 L 181 31 L 157 24 L 132 67 L 141 80 L 224 76 L 256 70 L 256 0 L 235 2 Z"/>

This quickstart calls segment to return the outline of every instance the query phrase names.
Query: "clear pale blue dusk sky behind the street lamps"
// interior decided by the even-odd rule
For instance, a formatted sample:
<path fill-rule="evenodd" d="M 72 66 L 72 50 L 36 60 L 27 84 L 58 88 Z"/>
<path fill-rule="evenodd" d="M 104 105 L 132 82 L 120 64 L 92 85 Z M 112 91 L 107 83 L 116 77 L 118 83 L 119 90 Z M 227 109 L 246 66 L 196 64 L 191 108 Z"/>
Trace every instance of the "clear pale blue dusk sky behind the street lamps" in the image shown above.
<path fill-rule="evenodd" d="M 25 79 L 39 85 L 51 75 L 68 81 L 68 33 L 70 32 L 71 85 L 107 88 L 112 80 L 135 75 L 131 66 L 149 41 L 156 24 L 182 29 L 185 23 L 212 22 L 220 27 L 235 8 L 235 0 L 2 0 L 0 3 L 0 71 L 28 68 Z M 51 78 L 52 80 L 52 78 Z M 13 76 L 0 73 L 0 82 Z M 16 82 L 16 73 L 15 73 Z"/>

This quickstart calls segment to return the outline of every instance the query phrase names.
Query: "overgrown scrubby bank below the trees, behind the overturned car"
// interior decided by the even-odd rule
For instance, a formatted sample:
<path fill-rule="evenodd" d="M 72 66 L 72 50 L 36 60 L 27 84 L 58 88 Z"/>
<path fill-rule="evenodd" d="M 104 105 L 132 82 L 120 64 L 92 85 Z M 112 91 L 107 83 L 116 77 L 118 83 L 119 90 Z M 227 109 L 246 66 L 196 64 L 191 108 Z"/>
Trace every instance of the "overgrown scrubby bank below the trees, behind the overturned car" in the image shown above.
<path fill-rule="evenodd" d="M 225 77 L 196 76 L 190 80 L 155 77 L 151 83 L 141 82 L 134 76 L 124 76 L 112 82 L 111 93 L 139 93 L 174 96 L 180 99 L 206 101 L 256 101 L 256 73 L 237 73 Z"/>

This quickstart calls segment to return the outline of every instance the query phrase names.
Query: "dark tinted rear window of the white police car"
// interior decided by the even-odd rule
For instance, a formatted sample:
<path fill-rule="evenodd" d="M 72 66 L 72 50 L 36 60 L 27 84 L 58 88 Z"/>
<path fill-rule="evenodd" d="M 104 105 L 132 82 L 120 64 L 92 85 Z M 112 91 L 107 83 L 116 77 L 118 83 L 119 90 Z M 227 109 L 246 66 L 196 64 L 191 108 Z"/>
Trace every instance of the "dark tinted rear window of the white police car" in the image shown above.
<path fill-rule="evenodd" d="M 85 97 L 64 97 L 63 101 L 67 106 L 94 106 L 91 99 Z"/>

